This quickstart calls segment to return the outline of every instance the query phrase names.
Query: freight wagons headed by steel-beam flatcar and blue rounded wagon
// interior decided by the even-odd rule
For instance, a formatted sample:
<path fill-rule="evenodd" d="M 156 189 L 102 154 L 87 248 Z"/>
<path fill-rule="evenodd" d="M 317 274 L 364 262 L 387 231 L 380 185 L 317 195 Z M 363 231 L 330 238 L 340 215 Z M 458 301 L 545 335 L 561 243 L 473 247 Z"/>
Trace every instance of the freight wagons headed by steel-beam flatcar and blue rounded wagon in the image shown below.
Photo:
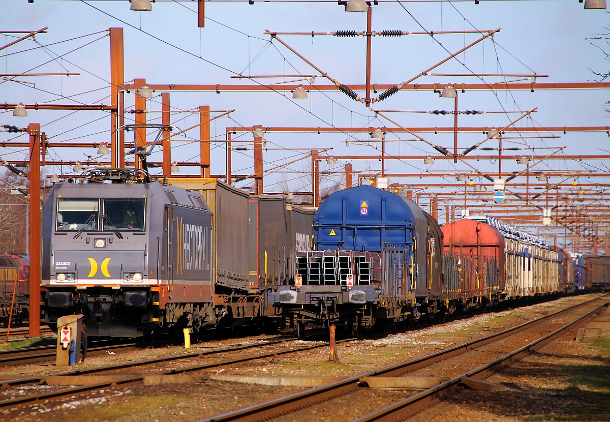
<path fill-rule="evenodd" d="M 296 254 L 294 282 L 267 293 L 300 337 L 306 326 L 334 324 L 359 335 L 373 326 L 583 290 L 592 280 L 607 288 L 610 279 L 610 257 L 574 259 L 486 216 L 440 227 L 411 199 L 367 185 L 326 198 L 315 213 L 313 246 Z"/>

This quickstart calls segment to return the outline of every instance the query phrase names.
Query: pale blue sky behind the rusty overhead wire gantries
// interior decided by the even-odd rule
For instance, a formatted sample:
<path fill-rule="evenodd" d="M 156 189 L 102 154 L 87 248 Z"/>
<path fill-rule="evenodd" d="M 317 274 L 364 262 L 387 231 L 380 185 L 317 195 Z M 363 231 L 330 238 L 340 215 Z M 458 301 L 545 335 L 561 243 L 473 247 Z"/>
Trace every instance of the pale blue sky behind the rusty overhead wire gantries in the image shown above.
<path fill-rule="evenodd" d="M 96 10 L 99 9 L 99 10 Z M 244 74 L 314 74 L 302 60 L 284 48 L 277 41 L 269 44 L 264 30 L 278 32 L 331 32 L 334 30 L 365 30 L 366 13 L 346 13 L 336 2 L 206 2 L 206 27 L 196 26 L 196 2 L 157 1 L 152 12 L 131 12 L 126 1 L 77 1 L 77 0 L 26 0 L 0 1 L 0 28 L 2 30 L 37 30 L 48 26 L 48 34 L 36 37 L 40 45 L 50 45 L 69 38 L 104 31 L 109 27 L 124 27 L 125 77 L 126 80 L 144 77 L 151 84 L 234 84 L 232 73 Z M 373 6 L 373 30 L 401 29 L 422 30 L 486 30 L 501 27 L 494 36 L 493 43 L 484 41 L 465 54 L 459 55 L 465 68 L 457 60 L 450 60 L 436 70 L 436 73 L 537 73 L 548 74 L 539 82 L 587 82 L 595 78 L 590 68 L 600 71 L 608 69 L 608 61 L 601 52 L 591 46 L 587 37 L 604 32 L 608 24 L 605 10 L 584 10 L 577 0 L 560 1 L 484 1 L 474 2 L 380 2 Z M 121 22 L 123 21 L 123 22 Z M 216 21 L 216 22 L 215 22 Z M 132 27 L 130 27 L 131 25 Z M 192 54 L 179 51 L 138 30 L 184 49 Z M 5 102 L 45 102 L 62 104 L 70 100 L 60 96 L 70 96 L 85 91 L 106 88 L 85 95 L 78 101 L 83 103 L 104 102 L 109 104 L 109 38 L 104 34 L 15 54 L 26 48 L 39 46 L 26 40 L 2 51 L 0 72 L 21 73 L 50 61 L 37 68 L 37 72 L 71 71 L 81 73 L 73 77 L 18 77 L 29 84 L 16 82 L 0 83 L 0 101 Z M 4 43 L 14 38 L 4 37 Z M 64 59 L 57 55 L 92 42 Z M 450 52 L 461 49 L 476 40 L 478 35 L 437 35 L 437 40 Z M 314 62 L 323 71 L 343 84 L 364 84 L 365 38 L 337 38 L 317 36 L 312 42 L 310 36 L 283 36 L 289 45 Z M 7 55 L 10 54 L 10 55 Z M 203 59 L 199 59 L 199 56 Z M 398 84 L 410 79 L 420 71 L 447 56 L 439 43 L 428 35 L 406 37 L 373 38 L 373 68 L 371 82 L 378 84 Z M 256 58 L 256 59 L 255 59 Z M 252 60 L 248 68 L 248 62 Z M 210 64 L 214 63 L 214 64 Z M 221 67 L 220 67 L 221 66 Z M 507 78 L 514 79 L 514 78 Z M 501 80 L 487 78 L 488 82 Z M 315 80 L 326 84 L 323 78 Z M 468 83 L 478 82 L 473 77 L 420 77 L 415 82 Z M 248 83 L 242 80 L 243 84 Z M 522 126 L 606 126 L 610 124 L 608 114 L 603 111 L 608 95 L 603 90 L 581 91 L 470 91 L 459 94 L 460 110 L 530 110 L 538 107 L 533 118 L 524 119 Z M 129 99 L 132 101 L 132 99 Z M 131 108 L 131 102 L 128 105 Z M 198 105 L 210 105 L 213 110 L 236 109 L 231 119 L 221 118 L 212 123 L 212 136 L 224 138 L 228 126 L 382 126 L 386 121 L 374 118 L 364 104 L 354 102 L 342 93 L 310 93 L 309 99 L 296 101 L 290 93 L 174 93 L 171 104 L 177 109 L 187 110 Z M 159 98 L 152 100 L 152 109 L 159 110 Z M 401 110 L 451 110 L 453 101 L 439 98 L 431 91 L 403 92 L 374 105 L 378 109 Z M 85 140 L 109 140 L 110 120 L 103 112 L 81 111 L 67 116 L 66 112 L 29 110 L 28 118 L 14 118 L 12 113 L 0 114 L 0 123 L 24 126 L 30 122 L 43 124 L 43 131 L 53 141 L 82 137 Z M 484 114 L 481 116 L 461 116 L 460 126 L 503 126 L 517 115 Z M 61 118 L 63 117 L 63 118 Z M 403 126 L 453 126 L 452 116 L 429 114 L 392 115 Z M 61 118 L 60 120 L 57 120 Z M 98 120 L 99 121 L 95 121 Z M 57 120 L 57 121 L 55 121 Z M 91 123 L 89 123 L 91 122 Z M 174 122 L 179 128 L 198 123 L 198 116 L 187 116 L 185 120 Z M 79 129 L 74 127 L 84 125 Z M 69 132 L 66 132 L 69 131 Z M 453 146 L 453 134 L 422 134 L 433 143 Z M 607 149 L 608 136 L 605 132 L 596 134 L 558 134 L 561 138 L 526 140 L 536 148 L 567 146 L 566 154 L 600 153 Z M 131 136 L 131 135 L 130 135 Z M 198 130 L 188 134 L 198 137 Z M 268 133 L 268 148 L 329 148 L 336 155 L 378 154 L 371 146 L 351 145 L 346 148 L 341 141 L 350 134 L 278 134 Z M 356 138 L 368 141 L 367 135 Z M 388 136 L 390 138 L 390 136 Z M 407 139 L 406 135 L 400 135 Z M 2 134 L 0 140 L 24 139 L 14 134 Z M 247 138 L 246 138 L 247 139 Z M 251 137 L 249 137 L 251 139 Z M 351 138 L 353 139 L 353 138 Z M 392 139 L 397 139 L 396 136 Z M 481 134 L 461 134 L 459 145 L 467 147 L 484 139 Z M 375 145 L 375 144 L 370 144 Z M 493 143 L 486 145 L 493 146 Z M 506 144 L 504 144 L 506 146 Z M 523 146 L 523 145 L 520 145 Z M 434 154 L 422 142 L 389 143 L 389 154 Z M 544 151 L 544 150 L 542 150 Z M 543 153 L 538 150 L 537 152 Z M 95 151 L 87 151 L 93 154 Z M 298 156 L 299 152 L 268 151 L 265 154 L 265 168 L 278 165 L 284 157 Z M 527 154 L 525 151 L 523 154 Z M 174 159 L 197 159 L 198 145 L 193 143 L 173 149 Z M 249 153 L 248 153 L 249 154 Z M 474 153 L 473 153 L 474 154 Z M 532 154 L 529 151 L 529 154 Z M 24 159 L 26 153 L 18 148 L 0 148 L 5 159 Z M 235 153 L 234 171 L 251 172 L 252 159 L 246 154 Z M 157 154 L 155 157 L 159 158 Z M 82 151 L 56 149 L 49 152 L 49 159 L 82 159 Z M 339 162 L 336 168 L 342 166 Z M 484 171 L 497 168 L 497 163 L 473 162 Z M 354 170 L 364 171 L 367 166 L 375 170 L 379 163 L 353 162 Z M 425 171 L 428 166 L 422 162 L 388 162 L 390 173 L 415 173 Z M 290 170 L 309 170 L 309 160 L 289 166 Z M 506 163 L 505 170 L 522 170 L 523 166 Z M 564 161 L 540 165 L 540 170 L 581 169 L 581 163 Z M 439 160 L 429 170 L 461 171 L 466 167 L 450 160 Z M 184 170 L 184 169 L 183 169 Z M 194 169 L 192 169 L 194 171 Z M 48 173 L 69 173 L 70 168 L 49 169 Z M 219 144 L 213 150 L 212 173 L 223 173 L 224 150 Z M 298 178 L 300 174 L 286 174 L 293 190 L 307 189 L 307 180 Z M 265 177 L 265 185 L 270 190 L 279 190 L 274 182 L 281 174 Z M 397 180 L 398 181 L 398 180 Z M 601 181 L 601 179 L 597 179 Z M 405 181 L 402 181 L 405 182 Z M 447 180 L 456 184 L 454 179 Z M 240 185 L 246 186 L 248 181 Z M 459 186 L 456 187 L 459 191 Z"/>

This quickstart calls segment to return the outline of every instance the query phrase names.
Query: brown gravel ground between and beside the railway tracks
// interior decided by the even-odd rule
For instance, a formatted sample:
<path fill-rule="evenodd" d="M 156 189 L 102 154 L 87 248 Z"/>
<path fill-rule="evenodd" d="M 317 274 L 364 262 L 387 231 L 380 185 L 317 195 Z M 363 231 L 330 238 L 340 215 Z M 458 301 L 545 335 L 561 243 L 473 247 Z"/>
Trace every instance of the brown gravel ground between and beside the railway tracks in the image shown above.
<path fill-rule="evenodd" d="M 562 298 L 544 304 L 485 313 L 465 320 L 392 334 L 379 340 L 346 343 L 338 346 L 339 362 L 329 362 L 328 348 L 321 348 L 302 352 L 298 356 L 276 356 L 239 367 L 227 367 L 223 373 L 249 376 L 353 376 L 498 332 L 595 296 L 600 295 Z M 262 339 L 263 337 L 257 338 Z M 425 410 L 412 420 L 608 421 L 610 332 L 602 330 L 597 337 L 589 337 L 586 340 L 576 340 L 574 335 L 565 335 L 486 380 L 517 388 L 519 392 L 464 390 Z M 159 354 L 162 351 L 134 351 L 132 359 L 145 359 L 140 353 Z M 88 363 L 107 364 L 112 363 L 109 360 L 115 358 L 99 358 L 101 361 L 104 359 L 105 362 Z M 38 365 L 39 369 L 40 366 Z M 27 368 L 7 370 L 35 373 L 36 367 L 37 365 L 28 365 Z M 44 372 L 52 369 L 43 368 Z M 216 372 L 217 370 L 210 370 L 207 374 Z M 0 418 L 16 421 L 190 422 L 302 390 L 301 387 L 237 384 L 210 379 L 195 384 L 130 385 L 60 402 L 8 410 L 4 412 L 4 416 L 0 414 Z M 345 402 L 342 414 L 321 415 L 315 410 L 307 412 L 306 416 L 299 414 L 284 417 L 282 421 L 353 420 L 364 414 L 358 412 L 372 410 L 371 406 L 367 407 L 367 401 L 385 403 L 387 399 L 382 398 L 383 393 L 364 394 L 359 404 Z M 387 393 L 387 398 L 404 396 L 404 392 L 400 391 Z"/>

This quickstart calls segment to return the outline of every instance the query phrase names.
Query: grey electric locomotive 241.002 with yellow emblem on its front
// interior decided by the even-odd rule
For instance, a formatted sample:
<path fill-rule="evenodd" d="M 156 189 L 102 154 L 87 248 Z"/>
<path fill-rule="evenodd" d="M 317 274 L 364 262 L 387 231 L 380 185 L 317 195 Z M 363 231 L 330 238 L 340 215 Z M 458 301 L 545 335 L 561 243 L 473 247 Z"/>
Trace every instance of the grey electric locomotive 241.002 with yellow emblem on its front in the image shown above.
<path fill-rule="evenodd" d="M 135 168 L 54 185 L 43 208 L 45 323 L 82 313 L 88 336 L 115 337 L 216 323 L 211 222 L 200 195 Z"/>

